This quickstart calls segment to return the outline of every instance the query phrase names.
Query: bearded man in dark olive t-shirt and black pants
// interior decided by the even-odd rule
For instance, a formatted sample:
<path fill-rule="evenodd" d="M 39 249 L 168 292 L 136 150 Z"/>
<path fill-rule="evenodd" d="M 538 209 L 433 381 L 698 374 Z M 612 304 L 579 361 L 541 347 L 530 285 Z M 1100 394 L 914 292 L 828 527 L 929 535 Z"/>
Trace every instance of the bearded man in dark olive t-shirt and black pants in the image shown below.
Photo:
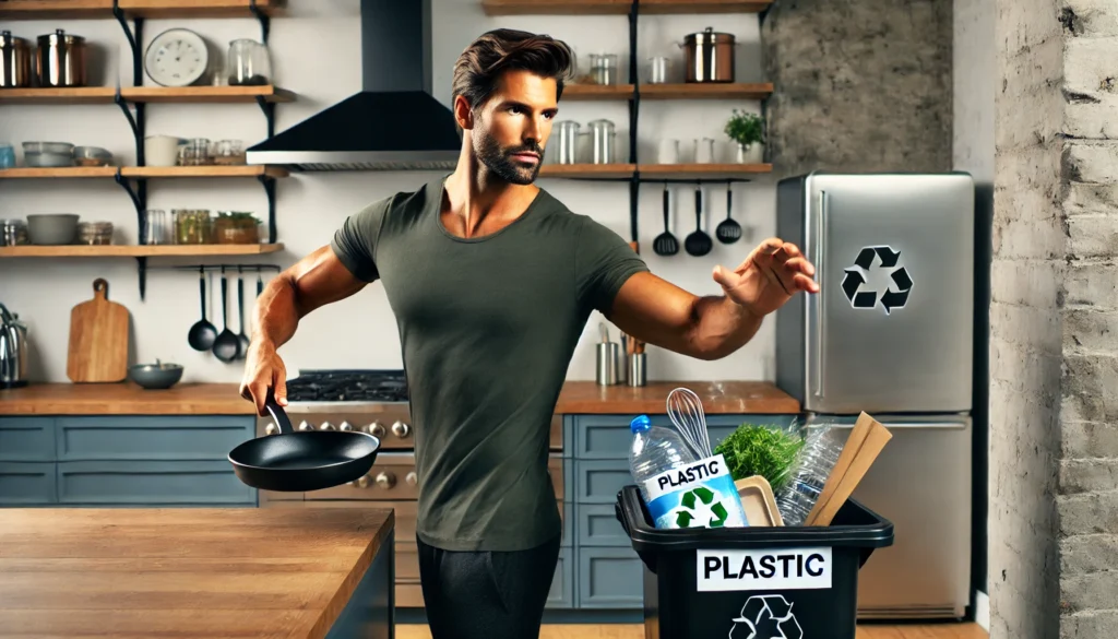
<path fill-rule="evenodd" d="M 420 481 L 417 542 L 435 639 L 538 637 L 561 526 L 548 431 L 591 310 L 648 344 L 724 357 L 798 291 L 796 246 L 768 239 L 697 298 L 617 234 L 533 186 L 571 51 L 499 29 L 454 67 L 457 168 L 349 217 L 268 283 L 241 394 L 286 400 L 276 349 L 314 309 L 380 281 L 399 328 Z"/>

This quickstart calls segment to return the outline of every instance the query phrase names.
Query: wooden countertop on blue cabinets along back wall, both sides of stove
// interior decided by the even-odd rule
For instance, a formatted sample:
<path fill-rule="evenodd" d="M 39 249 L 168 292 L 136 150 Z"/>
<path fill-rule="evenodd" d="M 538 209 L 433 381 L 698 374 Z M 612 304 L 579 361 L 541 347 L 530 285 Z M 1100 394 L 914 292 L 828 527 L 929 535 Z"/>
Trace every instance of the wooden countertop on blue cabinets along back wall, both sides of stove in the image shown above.
<path fill-rule="evenodd" d="M 798 413 L 799 402 L 768 382 L 650 382 L 647 386 L 563 385 L 556 414 L 663 414 L 667 394 L 679 386 L 694 391 L 703 411 L 719 413 Z M 0 391 L 0 415 L 254 415 L 236 384 L 177 384 L 146 391 L 123 384 L 32 384 Z"/>

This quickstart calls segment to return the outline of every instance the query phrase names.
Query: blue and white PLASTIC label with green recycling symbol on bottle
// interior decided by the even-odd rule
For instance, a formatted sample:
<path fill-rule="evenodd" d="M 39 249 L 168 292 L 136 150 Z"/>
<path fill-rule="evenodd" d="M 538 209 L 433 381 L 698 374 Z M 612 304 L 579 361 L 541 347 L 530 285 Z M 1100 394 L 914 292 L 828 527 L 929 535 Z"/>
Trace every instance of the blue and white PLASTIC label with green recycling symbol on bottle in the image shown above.
<path fill-rule="evenodd" d="M 656 528 L 745 527 L 746 513 L 721 454 L 673 468 L 644 482 Z"/>

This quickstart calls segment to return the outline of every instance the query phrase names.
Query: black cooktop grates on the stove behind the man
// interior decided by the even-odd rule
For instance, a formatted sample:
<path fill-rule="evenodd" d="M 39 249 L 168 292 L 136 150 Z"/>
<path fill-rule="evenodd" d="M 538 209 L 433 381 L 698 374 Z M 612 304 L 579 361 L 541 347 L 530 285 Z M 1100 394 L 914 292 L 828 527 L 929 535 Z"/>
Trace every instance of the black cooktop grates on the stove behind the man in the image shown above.
<path fill-rule="evenodd" d="M 402 370 L 302 370 L 287 382 L 288 402 L 407 402 Z"/>

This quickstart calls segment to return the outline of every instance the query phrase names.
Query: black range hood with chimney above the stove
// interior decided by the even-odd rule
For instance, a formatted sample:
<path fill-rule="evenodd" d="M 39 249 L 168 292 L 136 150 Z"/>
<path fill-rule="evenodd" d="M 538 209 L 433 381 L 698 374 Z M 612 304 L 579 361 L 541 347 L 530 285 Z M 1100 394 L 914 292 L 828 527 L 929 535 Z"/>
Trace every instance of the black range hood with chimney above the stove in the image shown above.
<path fill-rule="evenodd" d="M 453 169 L 454 114 L 432 94 L 430 0 L 361 0 L 362 91 L 247 150 L 305 171 Z"/>

